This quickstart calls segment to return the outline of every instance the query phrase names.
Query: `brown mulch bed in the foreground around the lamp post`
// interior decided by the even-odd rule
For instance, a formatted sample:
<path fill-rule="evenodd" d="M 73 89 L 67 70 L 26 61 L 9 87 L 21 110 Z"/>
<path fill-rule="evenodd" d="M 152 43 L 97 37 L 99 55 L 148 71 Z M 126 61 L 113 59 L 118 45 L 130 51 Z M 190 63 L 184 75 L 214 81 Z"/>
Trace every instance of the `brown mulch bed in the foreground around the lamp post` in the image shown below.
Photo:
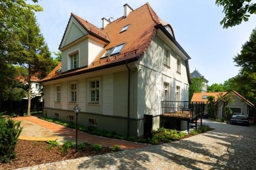
<path fill-rule="evenodd" d="M 94 151 L 91 145 L 88 145 L 84 150 L 78 150 L 77 153 L 75 149 L 69 149 L 67 154 L 61 155 L 60 146 L 52 149 L 49 149 L 49 146 L 50 144 L 41 141 L 18 140 L 15 149 L 16 160 L 10 163 L 0 163 L 0 169 L 15 169 L 113 152 L 108 147 L 103 147 L 101 151 Z"/>

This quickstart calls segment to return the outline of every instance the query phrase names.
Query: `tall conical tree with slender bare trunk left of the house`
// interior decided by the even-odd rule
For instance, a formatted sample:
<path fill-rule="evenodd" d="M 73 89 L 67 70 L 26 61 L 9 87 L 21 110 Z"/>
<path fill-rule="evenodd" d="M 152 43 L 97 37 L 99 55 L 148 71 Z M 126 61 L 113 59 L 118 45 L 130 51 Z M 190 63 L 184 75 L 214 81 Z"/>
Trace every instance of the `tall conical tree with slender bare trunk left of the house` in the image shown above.
<path fill-rule="evenodd" d="M 52 58 L 44 37 L 40 33 L 34 13 L 28 12 L 25 15 L 28 27 L 19 37 L 23 46 L 23 50 L 19 52 L 20 58 L 22 58 L 19 64 L 28 70 L 28 115 L 30 115 L 31 77 L 46 76 L 51 69 Z"/>

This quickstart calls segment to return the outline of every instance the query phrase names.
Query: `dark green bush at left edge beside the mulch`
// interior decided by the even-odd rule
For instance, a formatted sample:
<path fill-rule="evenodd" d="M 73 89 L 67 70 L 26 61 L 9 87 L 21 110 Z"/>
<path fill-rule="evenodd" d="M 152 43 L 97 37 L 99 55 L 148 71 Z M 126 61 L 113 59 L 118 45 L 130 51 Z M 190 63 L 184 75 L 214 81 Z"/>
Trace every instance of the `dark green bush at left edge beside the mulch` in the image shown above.
<path fill-rule="evenodd" d="M 0 117 L 0 162 L 7 163 L 15 159 L 15 146 L 22 130 L 20 122 Z"/>

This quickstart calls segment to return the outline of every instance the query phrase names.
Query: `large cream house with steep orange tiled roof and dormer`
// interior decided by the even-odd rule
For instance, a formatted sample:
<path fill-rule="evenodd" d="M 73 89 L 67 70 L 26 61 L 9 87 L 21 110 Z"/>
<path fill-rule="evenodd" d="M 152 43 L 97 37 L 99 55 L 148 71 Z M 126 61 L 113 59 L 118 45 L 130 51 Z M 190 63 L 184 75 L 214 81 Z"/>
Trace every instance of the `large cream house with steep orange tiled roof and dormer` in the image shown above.
<path fill-rule="evenodd" d="M 140 136 L 144 114 L 160 127 L 161 101 L 188 101 L 190 57 L 148 3 L 125 4 L 101 29 L 72 13 L 59 50 L 61 63 L 40 80 L 45 116 L 75 122 L 78 105 L 78 124 Z"/>

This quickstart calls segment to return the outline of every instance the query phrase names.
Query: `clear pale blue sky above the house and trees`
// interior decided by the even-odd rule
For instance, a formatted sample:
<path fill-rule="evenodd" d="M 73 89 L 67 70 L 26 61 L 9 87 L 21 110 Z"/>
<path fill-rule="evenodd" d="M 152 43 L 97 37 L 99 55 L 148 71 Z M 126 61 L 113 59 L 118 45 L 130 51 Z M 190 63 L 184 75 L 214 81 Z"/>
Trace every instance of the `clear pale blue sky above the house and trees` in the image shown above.
<path fill-rule="evenodd" d="M 36 13 L 36 17 L 50 51 L 56 52 L 71 12 L 100 28 L 102 17 L 122 16 L 124 4 L 136 9 L 146 2 L 173 27 L 176 40 L 191 57 L 190 71 L 197 68 L 209 84 L 223 83 L 238 74 L 239 67 L 234 66 L 232 58 L 256 27 L 256 16 L 239 26 L 222 29 L 219 22 L 224 16 L 223 8 L 217 7 L 215 1 L 43 0 L 39 5 L 44 11 Z"/>

